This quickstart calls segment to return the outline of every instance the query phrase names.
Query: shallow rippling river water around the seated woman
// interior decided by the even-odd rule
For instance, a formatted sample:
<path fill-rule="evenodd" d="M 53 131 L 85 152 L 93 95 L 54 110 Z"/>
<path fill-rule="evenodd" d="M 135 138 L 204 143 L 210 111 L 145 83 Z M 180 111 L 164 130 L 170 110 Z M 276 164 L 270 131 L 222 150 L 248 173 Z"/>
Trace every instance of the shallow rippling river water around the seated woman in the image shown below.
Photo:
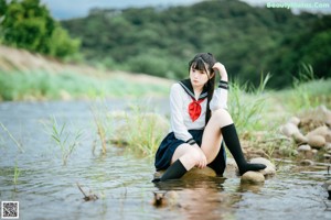
<path fill-rule="evenodd" d="M 161 113 L 167 101 L 153 100 Z M 331 219 L 322 184 L 325 167 L 288 163 L 264 185 L 242 185 L 234 175 L 153 185 L 153 158 L 140 158 L 97 140 L 92 102 L 0 103 L 0 200 L 19 201 L 20 219 Z M 128 103 L 108 100 L 110 111 Z M 65 131 L 82 131 L 81 144 L 63 165 L 51 138 L 51 118 Z M 68 133 L 68 143 L 75 134 Z M 17 174 L 17 175 L 15 175 Z M 15 177 L 14 177 L 15 176 Z M 95 201 L 85 201 L 76 184 Z M 168 191 L 153 206 L 153 191 Z M 164 199 L 166 201 L 166 199 Z"/>

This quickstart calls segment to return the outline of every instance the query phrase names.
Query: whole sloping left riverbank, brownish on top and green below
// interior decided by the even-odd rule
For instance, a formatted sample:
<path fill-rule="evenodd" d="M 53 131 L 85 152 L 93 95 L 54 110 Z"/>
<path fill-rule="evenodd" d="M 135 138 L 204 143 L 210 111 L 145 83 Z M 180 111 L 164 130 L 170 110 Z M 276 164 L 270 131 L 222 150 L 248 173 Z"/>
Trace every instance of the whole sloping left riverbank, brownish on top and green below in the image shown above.
<path fill-rule="evenodd" d="M 167 96 L 172 82 L 0 46 L 0 101 L 160 97 Z"/>

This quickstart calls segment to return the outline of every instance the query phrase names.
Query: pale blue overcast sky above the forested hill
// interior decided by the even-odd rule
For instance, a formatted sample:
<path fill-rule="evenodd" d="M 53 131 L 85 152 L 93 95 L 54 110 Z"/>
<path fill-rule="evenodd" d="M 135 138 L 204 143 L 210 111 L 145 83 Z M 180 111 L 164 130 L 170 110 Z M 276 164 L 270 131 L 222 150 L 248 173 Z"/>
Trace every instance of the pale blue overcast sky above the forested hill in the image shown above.
<path fill-rule="evenodd" d="M 41 0 L 51 10 L 55 19 L 71 19 L 86 16 L 93 8 L 100 9 L 125 9 L 128 7 L 169 7 L 185 6 L 200 2 L 202 0 Z M 254 6 L 266 6 L 267 2 L 319 2 L 327 3 L 322 9 L 311 8 L 310 11 L 321 11 L 331 13 L 330 0 L 242 0 Z"/>

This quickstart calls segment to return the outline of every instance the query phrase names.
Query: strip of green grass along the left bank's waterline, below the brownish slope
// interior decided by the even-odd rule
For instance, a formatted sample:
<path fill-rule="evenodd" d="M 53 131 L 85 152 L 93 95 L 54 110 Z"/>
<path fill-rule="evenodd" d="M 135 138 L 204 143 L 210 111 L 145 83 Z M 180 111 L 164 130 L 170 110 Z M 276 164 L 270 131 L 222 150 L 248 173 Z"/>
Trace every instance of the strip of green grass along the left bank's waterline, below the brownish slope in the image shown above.
<path fill-rule="evenodd" d="M 141 97 L 162 96 L 168 91 L 168 86 L 138 82 L 120 74 L 89 76 L 70 72 L 0 72 L 0 100 Z"/>

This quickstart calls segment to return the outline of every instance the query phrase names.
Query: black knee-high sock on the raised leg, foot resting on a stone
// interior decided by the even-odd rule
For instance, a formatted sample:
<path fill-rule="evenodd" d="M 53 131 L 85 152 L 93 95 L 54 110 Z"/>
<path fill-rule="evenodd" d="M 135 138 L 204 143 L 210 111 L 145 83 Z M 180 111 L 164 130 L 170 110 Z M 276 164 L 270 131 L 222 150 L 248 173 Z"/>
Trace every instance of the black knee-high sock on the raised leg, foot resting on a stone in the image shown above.
<path fill-rule="evenodd" d="M 221 132 L 227 148 L 238 165 L 241 175 L 248 170 L 259 170 L 266 168 L 266 165 L 264 164 L 249 164 L 246 162 L 234 124 L 221 128 Z"/>

